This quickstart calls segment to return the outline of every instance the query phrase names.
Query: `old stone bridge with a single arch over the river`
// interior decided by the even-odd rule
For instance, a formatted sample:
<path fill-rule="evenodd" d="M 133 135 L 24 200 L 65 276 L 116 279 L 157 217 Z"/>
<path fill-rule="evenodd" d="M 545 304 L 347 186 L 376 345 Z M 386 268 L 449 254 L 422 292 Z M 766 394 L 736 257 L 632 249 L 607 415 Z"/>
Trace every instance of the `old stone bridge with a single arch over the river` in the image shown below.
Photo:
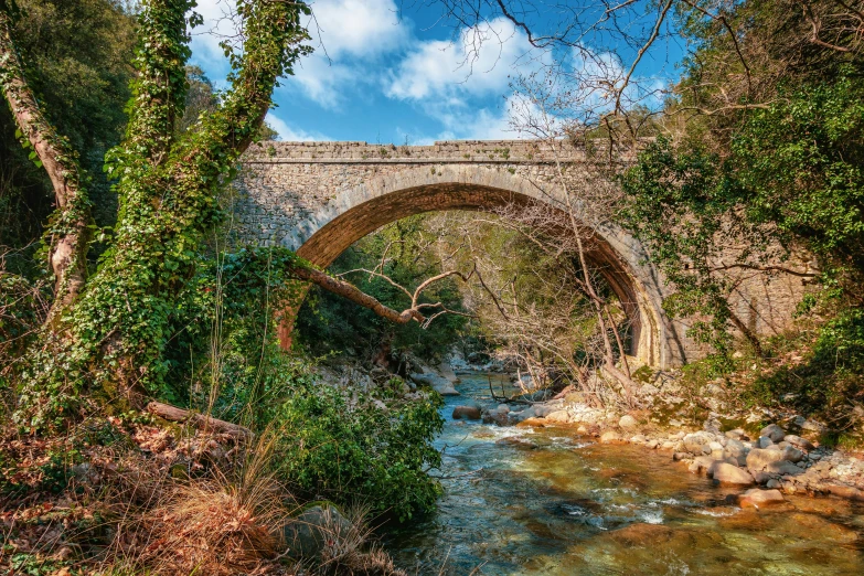
<path fill-rule="evenodd" d="M 527 140 L 399 147 L 263 142 L 246 153 L 236 181 L 236 237 L 244 244 L 282 245 L 327 267 L 366 234 L 422 212 L 495 211 L 536 202 L 561 211 L 566 202 L 557 167 L 565 166 L 565 181 L 576 184 L 586 180 L 588 163 L 584 149 L 553 150 Z M 589 257 L 631 321 L 630 354 L 658 367 L 703 355 L 687 338 L 686 323 L 663 311 L 668 287 L 644 263 L 639 243 L 611 223 L 594 239 Z M 800 279 L 748 271 L 737 287 L 738 316 L 757 332 L 779 331 L 800 290 Z"/>

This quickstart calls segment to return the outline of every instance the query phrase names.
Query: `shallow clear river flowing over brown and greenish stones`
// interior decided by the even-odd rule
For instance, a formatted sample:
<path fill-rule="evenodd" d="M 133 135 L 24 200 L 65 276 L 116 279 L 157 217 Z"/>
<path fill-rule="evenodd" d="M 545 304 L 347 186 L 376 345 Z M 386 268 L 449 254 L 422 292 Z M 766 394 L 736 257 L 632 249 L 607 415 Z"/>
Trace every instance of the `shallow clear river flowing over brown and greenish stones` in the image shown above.
<path fill-rule="evenodd" d="M 726 503 L 658 454 L 596 444 L 572 428 L 498 427 L 450 417 L 491 405 L 501 376 L 461 376 L 447 398 L 438 511 L 391 529 L 409 574 L 862 575 L 864 506 L 790 497 L 777 509 Z"/>

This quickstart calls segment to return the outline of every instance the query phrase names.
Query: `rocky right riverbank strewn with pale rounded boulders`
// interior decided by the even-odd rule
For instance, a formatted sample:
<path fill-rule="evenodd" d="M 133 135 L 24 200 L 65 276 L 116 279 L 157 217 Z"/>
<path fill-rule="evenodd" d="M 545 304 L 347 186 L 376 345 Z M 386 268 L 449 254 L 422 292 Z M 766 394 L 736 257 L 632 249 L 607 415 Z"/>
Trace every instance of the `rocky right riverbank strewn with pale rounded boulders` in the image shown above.
<path fill-rule="evenodd" d="M 579 398 L 568 394 L 518 408 L 499 404 L 482 410 L 481 418 L 529 427 L 565 426 L 601 442 L 641 446 L 727 486 L 864 501 L 864 458 L 821 441 L 828 431 L 822 423 L 754 409 L 746 415 L 710 412 L 700 426 L 686 422 L 683 401 L 673 413 L 681 418 L 676 419 L 670 417 L 665 402 L 653 410 L 627 413 L 593 408 Z"/>

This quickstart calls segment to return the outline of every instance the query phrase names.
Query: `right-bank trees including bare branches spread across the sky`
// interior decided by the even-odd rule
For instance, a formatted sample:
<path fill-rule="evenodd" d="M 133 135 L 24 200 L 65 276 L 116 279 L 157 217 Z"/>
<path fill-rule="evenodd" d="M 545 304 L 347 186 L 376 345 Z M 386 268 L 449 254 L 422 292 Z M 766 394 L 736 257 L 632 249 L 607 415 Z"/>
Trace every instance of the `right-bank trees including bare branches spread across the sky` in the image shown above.
<path fill-rule="evenodd" d="M 860 292 L 862 2 L 562 2 L 555 19 L 531 1 L 441 6 L 460 25 L 504 18 L 537 52 L 526 57 L 544 65 L 513 86 L 520 128 L 545 107 L 558 135 L 608 142 L 610 161 L 648 147 L 626 174 L 610 162 L 627 192 L 610 214 L 647 245 L 674 287 L 668 310 L 694 318 L 698 339 L 725 351 L 737 333 L 760 353 L 729 303 L 743 273 Z M 469 60 L 484 41 L 469 35 Z M 684 73 L 657 86 L 640 67 L 672 42 Z M 790 262 L 807 250 L 813 266 Z"/>

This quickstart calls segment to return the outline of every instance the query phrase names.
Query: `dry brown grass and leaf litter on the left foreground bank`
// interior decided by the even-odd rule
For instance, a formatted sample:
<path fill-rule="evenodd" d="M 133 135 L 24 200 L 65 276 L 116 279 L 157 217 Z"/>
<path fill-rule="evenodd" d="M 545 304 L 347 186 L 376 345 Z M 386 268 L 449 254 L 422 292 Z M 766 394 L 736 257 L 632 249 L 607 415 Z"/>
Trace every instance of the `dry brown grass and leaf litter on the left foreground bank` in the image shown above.
<path fill-rule="evenodd" d="M 285 526 L 297 522 L 292 516 L 302 506 L 270 471 L 275 440 L 285 430 L 246 444 L 110 424 L 117 441 L 87 447 L 87 468 L 58 493 L 40 487 L 40 467 L 49 452 L 75 442 L 3 436 L 15 478 L 31 490 L 14 502 L 0 499 L 0 536 L 13 548 L 0 552 L 0 573 L 11 553 L 24 553 L 36 563 L 63 561 L 83 574 L 115 576 L 405 574 L 372 543 L 364 508 L 346 512 L 348 523 L 324 519 L 326 544 L 316 557 L 289 557 L 296 551 L 287 550 Z"/>

